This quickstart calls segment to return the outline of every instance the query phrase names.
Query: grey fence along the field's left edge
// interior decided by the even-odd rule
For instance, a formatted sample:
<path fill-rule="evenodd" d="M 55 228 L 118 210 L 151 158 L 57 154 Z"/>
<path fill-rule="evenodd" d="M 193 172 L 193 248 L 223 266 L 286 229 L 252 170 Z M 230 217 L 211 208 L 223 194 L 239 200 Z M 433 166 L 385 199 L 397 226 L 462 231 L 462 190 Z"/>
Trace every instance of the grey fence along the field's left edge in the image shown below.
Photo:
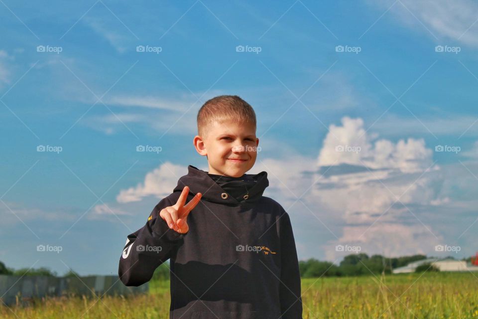
<path fill-rule="evenodd" d="M 0 275 L 0 299 L 9 306 L 28 303 L 45 296 L 85 295 L 96 298 L 103 295 L 132 295 L 149 291 L 148 283 L 139 287 L 126 287 L 118 276 L 48 277 Z M 0 302 L 0 305 L 2 303 Z"/>

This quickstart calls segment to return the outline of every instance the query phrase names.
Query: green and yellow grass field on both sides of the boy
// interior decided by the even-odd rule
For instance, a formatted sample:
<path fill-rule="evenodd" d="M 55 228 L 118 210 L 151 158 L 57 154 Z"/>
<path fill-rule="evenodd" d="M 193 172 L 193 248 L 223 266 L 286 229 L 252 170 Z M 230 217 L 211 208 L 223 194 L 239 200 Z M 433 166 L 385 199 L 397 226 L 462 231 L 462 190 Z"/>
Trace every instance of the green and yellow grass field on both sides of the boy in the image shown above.
<path fill-rule="evenodd" d="M 478 273 L 303 279 L 302 294 L 304 319 L 478 318 Z M 127 299 L 51 298 L 10 309 L 1 306 L 0 318 L 168 319 L 169 282 Z"/>

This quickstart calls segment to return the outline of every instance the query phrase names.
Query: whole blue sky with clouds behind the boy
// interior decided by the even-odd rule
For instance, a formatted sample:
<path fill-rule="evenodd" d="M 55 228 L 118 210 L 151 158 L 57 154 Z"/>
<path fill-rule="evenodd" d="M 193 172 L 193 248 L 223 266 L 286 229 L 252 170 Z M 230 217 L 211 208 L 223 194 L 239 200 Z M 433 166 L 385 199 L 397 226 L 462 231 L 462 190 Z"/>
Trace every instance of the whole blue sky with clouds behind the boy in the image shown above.
<path fill-rule="evenodd" d="M 8 267 L 116 274 L 187 165 L 207 170 L 195 117 L 221 94 L 255 109 L 248 173 L 300 259 L 478 250 L 476 3 L 0 2 Z"/>

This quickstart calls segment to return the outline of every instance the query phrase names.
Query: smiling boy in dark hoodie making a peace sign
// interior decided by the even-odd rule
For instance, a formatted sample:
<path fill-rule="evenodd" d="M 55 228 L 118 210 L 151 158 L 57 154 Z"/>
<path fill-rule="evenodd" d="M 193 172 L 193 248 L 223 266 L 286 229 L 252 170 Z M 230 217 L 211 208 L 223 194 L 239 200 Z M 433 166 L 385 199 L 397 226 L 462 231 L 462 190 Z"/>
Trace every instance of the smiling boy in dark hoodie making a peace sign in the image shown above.
<path fill-rule="evenodd" d="M 302 319 L 289 215 L 262 196 L 267 172 L 245 174 L 259 144 L 252 107 L 218 96 L 197 122 L 194 146 L 209 171 L 189 165 L 146 225 L 128 235 L 119 278 L 139 286 L 170 259 L 170 319 Z"/>

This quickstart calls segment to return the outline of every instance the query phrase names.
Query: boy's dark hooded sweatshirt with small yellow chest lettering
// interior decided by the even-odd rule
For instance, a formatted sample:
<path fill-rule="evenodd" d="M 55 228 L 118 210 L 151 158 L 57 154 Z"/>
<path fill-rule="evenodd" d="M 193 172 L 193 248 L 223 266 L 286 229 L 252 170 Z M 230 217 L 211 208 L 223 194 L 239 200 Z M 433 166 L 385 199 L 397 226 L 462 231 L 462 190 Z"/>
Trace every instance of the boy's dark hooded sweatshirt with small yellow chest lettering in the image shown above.
<path fill-rule="evenodd" d="M 302 319 L 289 215 L 262 196 L 268 185 L 265 171 L 227 177 L 189 165 L 146 224 L 128 235 L 119 278 L 139 286 L 170 259 L 170 319 Z M 180 234 L 159 212 L 177 202 L 184 186 L 186 203 L 198 192 L 202 197 L 188 215 L 189 231 Z"/>

